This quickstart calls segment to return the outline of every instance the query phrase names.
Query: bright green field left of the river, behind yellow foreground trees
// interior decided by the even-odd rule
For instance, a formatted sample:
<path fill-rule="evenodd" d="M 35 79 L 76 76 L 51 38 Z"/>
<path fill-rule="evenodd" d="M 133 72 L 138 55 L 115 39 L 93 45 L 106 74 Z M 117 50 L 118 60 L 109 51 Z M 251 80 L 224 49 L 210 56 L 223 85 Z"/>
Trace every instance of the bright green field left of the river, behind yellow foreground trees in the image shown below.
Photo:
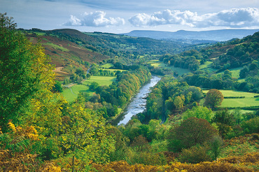
<path fill-rule="evenodd" d="M 85 80 L 82 85 L 73 85 L 70 88 L 64 89 L 62 94 L 67 101 L 71 102 L 74 99 L 76 99 L 77 95 L 80 92 L 87 92 L 88 94 L 90 94 L 90 96 L 92 96 L 93 92 L 91 92 L 89 90 L 89 87 L 87 86 L 88 84 L 90 84 L 92 82 L 96 82 L 99 85 L 111 85 L 111 83 L 113 83 L 113 81 L 116 81 L 116 77 L 112 77 L 112 76 L 91 76 L 90 80 Z"/>

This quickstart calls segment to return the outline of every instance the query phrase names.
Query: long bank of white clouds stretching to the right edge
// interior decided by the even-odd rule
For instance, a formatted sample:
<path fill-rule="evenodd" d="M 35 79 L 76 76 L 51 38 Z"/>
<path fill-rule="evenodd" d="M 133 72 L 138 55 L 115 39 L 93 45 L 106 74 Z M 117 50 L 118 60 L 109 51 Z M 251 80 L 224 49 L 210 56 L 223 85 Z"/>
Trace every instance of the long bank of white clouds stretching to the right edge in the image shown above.
<path fill-rule="evenodd" d="M 181 24 L 189 27 L 259 27 L 258 8 L 232 8 L 218 13 L 197 15 L 190 10 L 163 10 L 151 15 L 139 13 L 130 18 L 135 27 Z"/>

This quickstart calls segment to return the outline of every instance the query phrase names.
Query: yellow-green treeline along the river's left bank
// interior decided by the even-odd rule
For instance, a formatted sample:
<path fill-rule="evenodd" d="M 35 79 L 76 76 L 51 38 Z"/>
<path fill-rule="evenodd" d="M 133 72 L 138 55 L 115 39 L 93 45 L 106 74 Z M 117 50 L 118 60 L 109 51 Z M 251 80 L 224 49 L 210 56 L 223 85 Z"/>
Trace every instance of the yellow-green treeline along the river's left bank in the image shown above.
<path fill-rule="evenodd" d="M 118 114 L 118 107 L 125 106 L 139 88 L 151 79 L 151 73 L 146 67 L 141 66 L 134 71 L 117 74 L 117 82 L 112 85 L 99 86 L 91 83 L 90 90 L 96 92 L 87 103 L 87 107 L 103 113 L 108 119 Z M 95 108 L 94 108 L 95 107 Z"/>

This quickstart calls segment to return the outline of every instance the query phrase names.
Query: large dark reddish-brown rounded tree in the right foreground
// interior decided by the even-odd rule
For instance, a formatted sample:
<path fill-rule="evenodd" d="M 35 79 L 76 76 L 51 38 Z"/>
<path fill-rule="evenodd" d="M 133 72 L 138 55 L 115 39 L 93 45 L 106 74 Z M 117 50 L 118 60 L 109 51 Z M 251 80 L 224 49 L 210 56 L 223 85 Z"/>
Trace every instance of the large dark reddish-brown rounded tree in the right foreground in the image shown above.
<path fill-rule="evenodd" d="M 181 151 L 181 148 L 190 148 L 193 145 L 209 141 L 217 131 L 207 120 L 189 117 L 183 120 L 180 125 L 169 131 L 169 150 Z M 178 148 L 172 148 L 179 146 Z"/>

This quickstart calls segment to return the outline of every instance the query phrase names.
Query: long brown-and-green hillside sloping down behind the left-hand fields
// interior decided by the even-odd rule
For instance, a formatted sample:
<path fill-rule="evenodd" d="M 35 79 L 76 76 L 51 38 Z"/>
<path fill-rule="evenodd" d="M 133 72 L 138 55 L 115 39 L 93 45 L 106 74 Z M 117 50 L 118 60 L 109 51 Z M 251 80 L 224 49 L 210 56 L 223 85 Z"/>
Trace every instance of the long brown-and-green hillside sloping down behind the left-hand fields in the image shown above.
<path fill-rule="evenodd" d="M 183 43 L 158 41 L 152 38 L 137 38 L 102 32 L 83 33 L 75 29 L 24 30 L 29 41 L 41 42 L 52 64 L 59 69 L 59 80 L 77 68 L 84 70 L 90 63 L 102 63 L 111 59 L 113 63 L 143 62 L 158 55 L 181 52 Z M 61 71 L 62 70 L 62 71 Z"/>

